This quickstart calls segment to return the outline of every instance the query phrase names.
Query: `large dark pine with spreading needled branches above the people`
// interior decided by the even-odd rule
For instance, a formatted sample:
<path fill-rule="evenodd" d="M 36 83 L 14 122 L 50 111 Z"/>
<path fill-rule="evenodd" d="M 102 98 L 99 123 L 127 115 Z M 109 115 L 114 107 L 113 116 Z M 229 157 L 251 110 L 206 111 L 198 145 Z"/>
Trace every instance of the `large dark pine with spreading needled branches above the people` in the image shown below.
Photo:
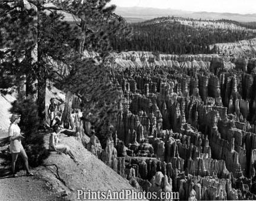
<path fill-rule="evenodd" d="M 49 6 L 49 2 L 54 6 Z M 1 54 L 4 63 L 1 63 L 0 75 L 5 78 L 2 86 L 18 85 L 20 77 L 25 75 L 28 95 L 33 93 L 28 91 L 33 89 L 30 84 L 37 80 L 41 123 L 47 79 L 55 80 L 66 92 L 76 93 L 82 101 L 102 99 L 107 105 L 113 103 L 114 90 L 110 92 L 110 72 L 106 67 L 111 51 L 109 38 L 123 34 L 126 22 L 113 13 L 114 6 L 106 7 L 108 2 L 24 0 L 0 3 L 4 22 L 0 25 L 0 43 L 6 48 Z M 72 15 L 73 25 L 65 21 L 64 13 Z M 84 50 L 96 53 L 98 61 L 82 58 Z M 63 68 L 68 73 L 63 74 Z M 12 82 L 7 85 L 9 79 Z"/>

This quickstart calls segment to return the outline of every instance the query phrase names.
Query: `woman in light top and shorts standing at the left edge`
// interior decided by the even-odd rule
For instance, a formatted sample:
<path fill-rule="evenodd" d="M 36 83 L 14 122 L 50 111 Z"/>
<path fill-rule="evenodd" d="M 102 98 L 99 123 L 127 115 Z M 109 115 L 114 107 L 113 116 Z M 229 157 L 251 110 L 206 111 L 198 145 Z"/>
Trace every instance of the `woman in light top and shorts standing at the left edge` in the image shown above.
<path fill-rule="evenodd" d="M 11 125 L 9 127 L 9 149 L 11 151 L 12 155 L 12 163 L 11 163 L 11 168 L 12 168 L 12 176 L 17 177 L 18 175 L 15 174 L 15 163 L 17 161 L 18 155 L 20 154 L 21 157 L 24 160 L 25 164 L 25 169 L 27 171 L 28 176 L 33 176 L 33 173 L 30 173 L 29 168 L 28 168 L 28 157 L 27 154 L 25 153 L 25 150 L 23 148 L 23 145 L 21 144 L 21 138 L 23 137 L 23 134 L 21 134 L 20 127 L 18 127 L 18 123 L 20 122 L 20 114 L 12 114 L 11 116 Z"/>

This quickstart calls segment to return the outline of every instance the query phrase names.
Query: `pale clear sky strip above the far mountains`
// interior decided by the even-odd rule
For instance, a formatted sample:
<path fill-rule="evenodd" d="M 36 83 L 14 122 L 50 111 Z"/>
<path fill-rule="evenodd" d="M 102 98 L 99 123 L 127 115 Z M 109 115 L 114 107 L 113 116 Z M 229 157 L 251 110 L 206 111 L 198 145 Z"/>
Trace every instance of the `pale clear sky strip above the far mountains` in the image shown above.
<path fill-rule="evenodd" d="M 111 0 L 117 7 L 151 7 L 184 11 L 255 14 L 256 0 Z"/>

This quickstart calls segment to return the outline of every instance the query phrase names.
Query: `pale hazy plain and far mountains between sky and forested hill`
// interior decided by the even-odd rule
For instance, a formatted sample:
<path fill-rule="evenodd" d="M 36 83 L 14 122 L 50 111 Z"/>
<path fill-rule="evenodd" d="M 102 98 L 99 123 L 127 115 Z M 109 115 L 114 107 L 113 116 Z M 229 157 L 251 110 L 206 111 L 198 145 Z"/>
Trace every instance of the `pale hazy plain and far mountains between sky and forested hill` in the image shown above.
<path fill-rule="evenodd" d="M 203 20 L 235 20 L 239 22 L 256 22 L 255 14 L 234 14 L 229 12 L 193 12 L 193 11 L 183 11 L 178 9 L 160 9 L 160 8 L 145 8 L 145 7 L 117 7 L 116 14 L 124 17 L 127 22 L 141 22 L 145 20 L 150 20 L 156 17 L 167 17 L 177 16 L 177 17 L 188 17 Z"/>

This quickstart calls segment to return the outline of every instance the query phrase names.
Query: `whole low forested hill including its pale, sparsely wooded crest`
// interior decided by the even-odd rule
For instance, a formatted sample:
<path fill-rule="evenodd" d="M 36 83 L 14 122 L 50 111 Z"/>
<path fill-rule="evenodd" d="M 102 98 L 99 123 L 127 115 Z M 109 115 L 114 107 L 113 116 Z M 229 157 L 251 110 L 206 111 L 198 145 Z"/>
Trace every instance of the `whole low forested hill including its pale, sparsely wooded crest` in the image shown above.
<path fill-rule="evenodd" d="M 254 22 L 252 22 L 254 23 Z M 255 55 L 255 49 L 247 46 L 230 51 L 237 41 L 256 38 L 256 26 L 233 20 L 199 20 L 186 17 L 158 17 L 130 24 L 133 35 L 111 38 L 116 51 L 158 51 L 168 54 L 211 54 L 225 49 L 225 54 Z M 228 46 L 226 48 L 226 43 Z M 211 49 L 212 44 L 223 44 Z M 239 44 L 238 44 L 239 46 Z M 252 44 L 255 46 L 255 43 Z"/>

